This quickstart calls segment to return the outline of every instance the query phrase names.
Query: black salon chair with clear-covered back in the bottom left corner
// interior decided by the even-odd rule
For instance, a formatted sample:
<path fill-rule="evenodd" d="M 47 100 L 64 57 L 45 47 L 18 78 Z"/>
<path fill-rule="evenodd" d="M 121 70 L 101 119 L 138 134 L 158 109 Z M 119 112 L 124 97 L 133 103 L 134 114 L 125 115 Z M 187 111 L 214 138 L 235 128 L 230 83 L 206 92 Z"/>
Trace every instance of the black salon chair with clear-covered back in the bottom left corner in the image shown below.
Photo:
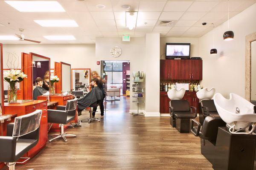
<path fill-rule="evenodd" d="M 15 117 L 15 122 L 7 125 L 7 136 L 0 136 L 0 162 L 6 162 L 9 170 L 15 170 L 16 161 L 38 143 L 41 113 L 36 110 Z"/>

